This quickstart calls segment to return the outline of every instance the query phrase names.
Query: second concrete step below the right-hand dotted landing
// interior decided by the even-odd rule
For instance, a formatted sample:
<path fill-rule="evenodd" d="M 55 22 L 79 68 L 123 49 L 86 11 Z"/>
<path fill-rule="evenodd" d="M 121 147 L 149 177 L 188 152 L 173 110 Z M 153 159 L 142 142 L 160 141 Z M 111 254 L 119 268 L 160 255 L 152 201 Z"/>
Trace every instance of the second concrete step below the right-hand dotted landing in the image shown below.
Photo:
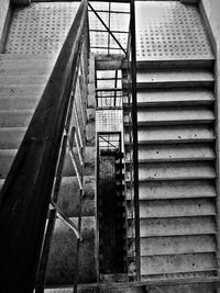
<path fill-rule="evenodd" d="M 169 89 L 138 91 L 138 106 L 175 106 L 211 104 L 215 95 L 208 89 Z"/>

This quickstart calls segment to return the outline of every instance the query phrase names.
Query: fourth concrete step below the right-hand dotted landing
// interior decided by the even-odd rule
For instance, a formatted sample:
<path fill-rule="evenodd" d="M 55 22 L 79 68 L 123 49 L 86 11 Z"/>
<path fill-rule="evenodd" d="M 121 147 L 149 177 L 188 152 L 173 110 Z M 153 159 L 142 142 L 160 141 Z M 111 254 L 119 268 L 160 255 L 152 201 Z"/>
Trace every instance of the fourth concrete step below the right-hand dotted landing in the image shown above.
<path fill-rule="evenodd" d="M 148 126 L 139 127 L 139 145 L 206 143 L 216 139 L 213 128 L 208 125 Z M 125 135 L 128 145 L 129 135 Z"/>

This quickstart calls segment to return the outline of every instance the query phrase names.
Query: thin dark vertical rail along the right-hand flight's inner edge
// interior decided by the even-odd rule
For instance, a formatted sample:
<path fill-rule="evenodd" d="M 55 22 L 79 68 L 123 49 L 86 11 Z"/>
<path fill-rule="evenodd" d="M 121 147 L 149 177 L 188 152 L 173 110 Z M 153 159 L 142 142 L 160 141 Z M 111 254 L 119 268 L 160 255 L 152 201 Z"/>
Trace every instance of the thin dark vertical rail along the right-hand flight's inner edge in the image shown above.
<path fill-rule="evenodd" d="M 135 44 L 135 5 L 131 0 L 131 75 L 132 75 L 132 131 L 133 131 L 133 176 L 134 176 L 134 216 L 135 216 L 135 261 L 136 280 L 141 279 L 140 259 L 140 211 L 139 211 L 139 146 L 136 113 L 136 44 Z M 129 61 L 129 60 L 128 60 Z"/>

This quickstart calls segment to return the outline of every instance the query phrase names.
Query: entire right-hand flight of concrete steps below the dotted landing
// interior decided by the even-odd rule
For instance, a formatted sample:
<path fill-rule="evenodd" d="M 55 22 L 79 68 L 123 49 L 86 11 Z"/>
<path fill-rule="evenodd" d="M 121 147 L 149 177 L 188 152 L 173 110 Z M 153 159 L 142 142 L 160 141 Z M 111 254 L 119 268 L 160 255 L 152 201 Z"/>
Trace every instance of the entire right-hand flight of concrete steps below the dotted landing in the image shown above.
<path fill-rule="evenodd" d="M 213 59 L 143 60 L 136 79 L 142 280 L 216 275 Z M 128 159 L 127 114 L 124 131 Z"/>

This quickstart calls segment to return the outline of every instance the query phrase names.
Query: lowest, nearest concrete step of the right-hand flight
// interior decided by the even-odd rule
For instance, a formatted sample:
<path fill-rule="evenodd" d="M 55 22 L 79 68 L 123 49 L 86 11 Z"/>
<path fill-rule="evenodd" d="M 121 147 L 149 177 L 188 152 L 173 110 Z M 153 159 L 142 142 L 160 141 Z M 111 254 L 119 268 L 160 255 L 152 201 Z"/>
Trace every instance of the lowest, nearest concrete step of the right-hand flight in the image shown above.
<path fill-rule="evenodd" d="M 169 274 L 217 270 L 215 253 L 141 257 L 141 274 Z"/>

